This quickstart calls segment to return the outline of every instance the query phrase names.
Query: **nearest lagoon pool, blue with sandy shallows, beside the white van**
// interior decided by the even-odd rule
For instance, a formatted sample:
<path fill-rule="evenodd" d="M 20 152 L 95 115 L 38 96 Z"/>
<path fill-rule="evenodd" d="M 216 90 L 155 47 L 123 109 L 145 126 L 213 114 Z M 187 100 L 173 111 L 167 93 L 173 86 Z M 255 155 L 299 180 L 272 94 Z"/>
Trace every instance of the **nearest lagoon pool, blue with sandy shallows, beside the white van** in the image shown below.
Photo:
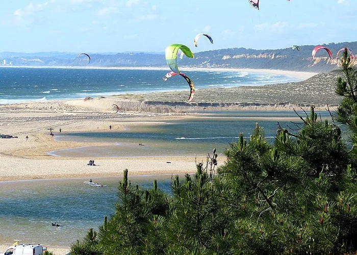
<path fill-rule="evenodd" d="M 155 179 L 170 194 L 171 175 L 129 176 L 142 189 L 151 188 Z M 0 240 L 69 246 L 114 213 L 121 180 L 122 176 L 93 178 L 107 185 L 103 188 L 84 184 L 89 178 L 0 182 Z"/>

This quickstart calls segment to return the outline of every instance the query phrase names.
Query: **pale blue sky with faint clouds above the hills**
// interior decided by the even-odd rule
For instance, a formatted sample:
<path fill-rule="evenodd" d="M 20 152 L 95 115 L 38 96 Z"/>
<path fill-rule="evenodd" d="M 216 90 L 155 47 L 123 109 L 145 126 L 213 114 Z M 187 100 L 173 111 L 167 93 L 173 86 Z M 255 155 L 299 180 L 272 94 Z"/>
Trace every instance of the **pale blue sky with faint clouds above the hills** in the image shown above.
<path fill-rule="evenodd" d="M 194 52 L 356 41 L 357 0 L 14 0 L 0 6 L 0 52 Z M 197 33 L 208 33 L 214 44 Z"/>

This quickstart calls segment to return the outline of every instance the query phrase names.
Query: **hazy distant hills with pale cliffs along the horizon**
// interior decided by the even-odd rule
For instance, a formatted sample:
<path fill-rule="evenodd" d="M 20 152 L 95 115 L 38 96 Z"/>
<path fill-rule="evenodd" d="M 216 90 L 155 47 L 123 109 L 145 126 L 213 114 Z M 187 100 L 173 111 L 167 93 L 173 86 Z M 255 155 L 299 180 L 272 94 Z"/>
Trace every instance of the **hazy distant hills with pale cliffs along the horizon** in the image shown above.
<path fill-rule="evenodd" d="M 178 59 L 181 67 L 224 67 L 282 69 L 293 71 L 328 72 L 338 69 L 336 54 L 343 47 L 357 48 L 357 42 L 323 44 L 333 53 L 330 59 L 322 49 L 313 60 L 311 52 L 315 45 L 302 45 L 301 50 L 227 48 L 194 53 L 195 58 Z M 198 48 L 191 47 L 192 50 Z M 164 53 L 108 53 L 90 54 L 91 62 L 86 58 L 77 58 L 78 54 L 62 52 L 41 53 L 0 53 L 0 66 L 98 66 L 98 67 L 166 67 Z"/>

